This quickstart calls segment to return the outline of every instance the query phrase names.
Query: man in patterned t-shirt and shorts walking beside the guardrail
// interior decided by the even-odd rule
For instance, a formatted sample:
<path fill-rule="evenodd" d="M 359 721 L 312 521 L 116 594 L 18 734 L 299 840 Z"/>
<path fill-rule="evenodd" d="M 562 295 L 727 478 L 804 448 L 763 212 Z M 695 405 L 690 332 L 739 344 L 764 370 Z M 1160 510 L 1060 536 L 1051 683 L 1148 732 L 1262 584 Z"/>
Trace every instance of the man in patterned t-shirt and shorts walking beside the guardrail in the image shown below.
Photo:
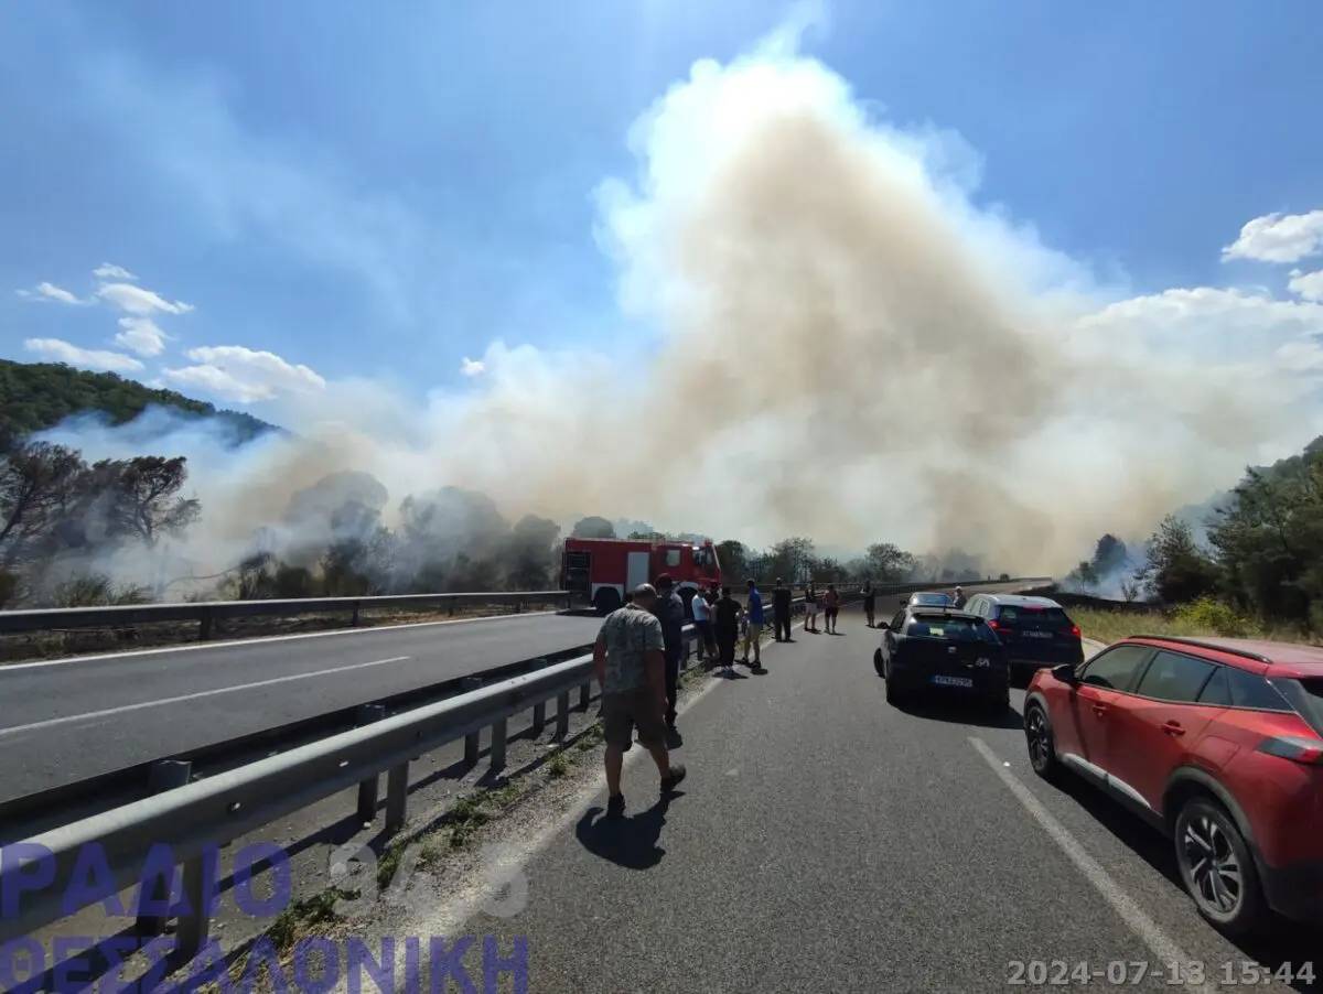
<path fill-rule="evenodd" d="M 651 613 L 658 599 L 651 584 L 634 590 L 634 601 L 606 616 L 593 645 L 593 668 L 602 686 L 602 732 L 606 739 L 607 817 L 624 814 L 620 767 L 634 730 L 658 764 L 662 792 L 669 793 L 685 769 L 665 748 L 665 657 L 662 623 Z"/>

